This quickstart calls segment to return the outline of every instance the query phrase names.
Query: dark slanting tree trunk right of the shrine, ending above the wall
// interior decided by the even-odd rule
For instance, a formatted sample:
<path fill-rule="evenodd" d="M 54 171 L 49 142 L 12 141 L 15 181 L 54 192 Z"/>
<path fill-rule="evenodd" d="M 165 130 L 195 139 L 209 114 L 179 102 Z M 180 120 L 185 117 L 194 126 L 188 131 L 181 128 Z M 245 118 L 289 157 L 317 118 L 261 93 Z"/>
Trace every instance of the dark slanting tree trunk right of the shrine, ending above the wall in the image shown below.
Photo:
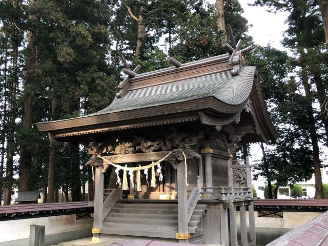
<path fill-rule="evenodd" d="M 302 56 L 304 57 L 304 52 L 300 51 L 301 54 L 301 60 Z M 317 136 L 317 130 L 315 126 L 315 119 L 314 119 L 314 112 L 312 107 L 312 96 L 310 91 L 310 85 L 309 85 L 309 77 L 308 77 L 308 71 L 306 71 L 306 68 L 304 66 L 301 66 L 301 80 L 302 85 L 304 87 L 305 91 L 305 98 L 308 100 L 308 107 L 306 107 L 306 112 L 308 114 L 308 120 L 309 120 L 309 132 L 310 132 L 310 138 L 312 142 L 312 152 L 313 152 L 313 166 L 314 166 L 314 177 L 315 177 L 315 198 L 316 199 L 323 199 L 323 187 L 322 187 L 322 179 L 321 179 L 321 171 L 320 171 L 320 151 L 318 146 L 318 136 Z"/>

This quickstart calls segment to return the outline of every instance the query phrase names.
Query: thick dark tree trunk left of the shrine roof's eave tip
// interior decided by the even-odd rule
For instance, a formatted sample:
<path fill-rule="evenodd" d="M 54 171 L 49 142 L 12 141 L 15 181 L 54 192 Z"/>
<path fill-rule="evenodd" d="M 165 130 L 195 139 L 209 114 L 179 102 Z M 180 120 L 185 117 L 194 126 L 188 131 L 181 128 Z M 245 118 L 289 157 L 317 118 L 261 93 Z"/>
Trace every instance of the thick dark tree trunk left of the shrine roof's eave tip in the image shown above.
<path fill-rule="evenodd" d="M 34 0 L 29 0 L 29 8 L 31 9 L 34 5 Z M 35 14 L 29 15 L 29 20 L 36 20 Z M 34 66 L 35 66 L 35 37 L 33 32 L 28 31 L 27 33 L 27 65 L 26 65 L 26 84 L 31 85 L 34 77 Z M 25 93 L 24 95 L 24 115 L 23 115 L 23 128 L 26 131 L 32 130 L 33 124 L 33 93 Z M 25 139 L 27 140 L 27 139 Z M 20 146 L 20 158 L 19 158 L 19 190 L 25 191 L 28 188 L 28 182 L 31 175 L 31 146 L 23 145 Z"/>

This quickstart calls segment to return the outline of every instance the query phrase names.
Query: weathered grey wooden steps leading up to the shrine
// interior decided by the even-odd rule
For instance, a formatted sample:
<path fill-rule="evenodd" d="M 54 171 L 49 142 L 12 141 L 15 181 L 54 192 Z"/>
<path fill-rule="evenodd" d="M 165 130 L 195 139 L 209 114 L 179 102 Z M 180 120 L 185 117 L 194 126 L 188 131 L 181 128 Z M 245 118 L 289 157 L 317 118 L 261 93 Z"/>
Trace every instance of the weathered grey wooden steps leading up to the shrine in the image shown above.
<path fill-rule="evenodd" d="M 197 204 L 189 221 L 189 242 L 203 243 L 202 219 L 207 205 Z M 101 233 L 175 239 L 178 233 L 177 202 L 119 200 L 103 221 Z"/>

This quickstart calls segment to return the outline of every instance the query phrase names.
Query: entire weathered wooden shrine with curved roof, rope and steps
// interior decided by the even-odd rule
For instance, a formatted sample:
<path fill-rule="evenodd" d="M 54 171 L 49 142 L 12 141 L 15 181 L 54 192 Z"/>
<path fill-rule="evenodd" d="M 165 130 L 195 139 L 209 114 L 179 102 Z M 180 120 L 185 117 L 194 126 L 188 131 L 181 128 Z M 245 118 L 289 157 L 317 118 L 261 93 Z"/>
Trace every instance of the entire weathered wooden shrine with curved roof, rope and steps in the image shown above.
<path fill-rule="evenodd" d="M 239 142 L 268 142 L 277 133 L 258 70 L 245 65 L 251 47 L 240 44 L 187 64 L 169 57 L 172 67 L 142 74 L 124 60 L 110 106 L 36 124 L 51 141 L 83 144 L 91 154 L 94 241 L 126 235 L 256 245 L 252 166 L 233 153 Z M 109 170 L 115 187 L 104 184 Z"/>

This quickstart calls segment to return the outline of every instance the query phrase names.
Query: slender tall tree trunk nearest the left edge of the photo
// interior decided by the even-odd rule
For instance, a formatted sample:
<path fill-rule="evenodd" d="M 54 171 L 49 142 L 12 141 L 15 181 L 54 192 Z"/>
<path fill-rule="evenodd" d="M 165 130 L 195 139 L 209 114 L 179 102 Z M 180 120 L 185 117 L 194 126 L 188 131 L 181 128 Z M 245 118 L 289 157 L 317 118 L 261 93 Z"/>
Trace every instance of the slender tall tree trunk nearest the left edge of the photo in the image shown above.
<path fill-rule="evenodd" d="M 14 142 L 14 125 L 16 119 L 16 90 L 18 85 L 18 33 L 15 34 L 16 40 L 13 44 L 13 71 L 12 71 L 12 81 L 11 81 L 11 98 L 10 98 L 10 117 L 9 117 L 9 131 L 7 139 L 7 161 L 6 161 L 6 176 L 7 176 L 7 186 L 5 195 L 5 205 L 10 205 L 11 192 L 13 185 L 13 157 L 15 154 L 15 142 Z"/>

